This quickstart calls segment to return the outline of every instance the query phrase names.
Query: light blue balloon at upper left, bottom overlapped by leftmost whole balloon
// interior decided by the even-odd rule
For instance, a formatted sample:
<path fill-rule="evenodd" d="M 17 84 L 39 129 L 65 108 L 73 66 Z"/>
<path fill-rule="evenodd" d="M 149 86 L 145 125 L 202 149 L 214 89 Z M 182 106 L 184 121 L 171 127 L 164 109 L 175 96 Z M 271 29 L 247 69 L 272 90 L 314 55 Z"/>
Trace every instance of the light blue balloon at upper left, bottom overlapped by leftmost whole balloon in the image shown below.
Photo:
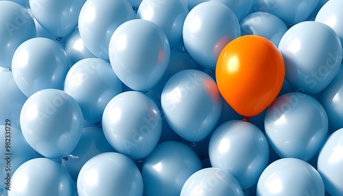
<path fill-rule="evenodd" d="M 16 49 L 12 73 L 19 89 L 27 97 L 46 88 L 63 89 L 69 71 L 64 49 L 48 38 L 32 38 Z"/>

